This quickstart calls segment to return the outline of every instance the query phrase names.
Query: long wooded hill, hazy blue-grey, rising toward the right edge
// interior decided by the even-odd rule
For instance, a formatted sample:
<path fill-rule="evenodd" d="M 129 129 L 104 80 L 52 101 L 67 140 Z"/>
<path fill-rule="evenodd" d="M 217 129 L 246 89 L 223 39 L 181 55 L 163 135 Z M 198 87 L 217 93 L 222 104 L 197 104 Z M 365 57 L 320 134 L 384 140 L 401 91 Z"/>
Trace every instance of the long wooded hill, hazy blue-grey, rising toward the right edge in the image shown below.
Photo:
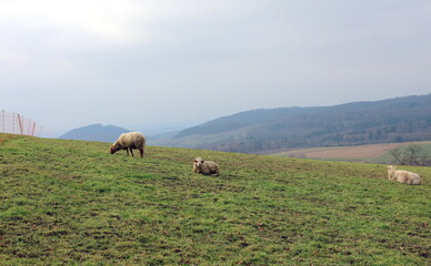
<path fill-rule="evenodd" d="M 154 144 L 260 153 L 431 140 L 431 94 L 335 106 L 260 109 L 186 129 Z"/>

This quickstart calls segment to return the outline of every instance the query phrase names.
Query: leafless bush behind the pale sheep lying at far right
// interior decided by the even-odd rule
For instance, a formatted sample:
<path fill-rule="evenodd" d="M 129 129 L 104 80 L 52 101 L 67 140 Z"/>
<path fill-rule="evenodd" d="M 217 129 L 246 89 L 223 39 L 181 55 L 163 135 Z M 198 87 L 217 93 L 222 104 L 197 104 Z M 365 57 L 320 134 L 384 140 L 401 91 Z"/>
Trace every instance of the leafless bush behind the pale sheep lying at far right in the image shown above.
<path fill-rule="evenodd" d="M 431 165 L 431 158 L 429 157 L 427 152 L 415 144 L 410 144 L 405 149 L 393 149 L 392 151 L 390 151 L 390 153 L 394 158 L 394 163 L 397 164 L 418 166 Z"/>

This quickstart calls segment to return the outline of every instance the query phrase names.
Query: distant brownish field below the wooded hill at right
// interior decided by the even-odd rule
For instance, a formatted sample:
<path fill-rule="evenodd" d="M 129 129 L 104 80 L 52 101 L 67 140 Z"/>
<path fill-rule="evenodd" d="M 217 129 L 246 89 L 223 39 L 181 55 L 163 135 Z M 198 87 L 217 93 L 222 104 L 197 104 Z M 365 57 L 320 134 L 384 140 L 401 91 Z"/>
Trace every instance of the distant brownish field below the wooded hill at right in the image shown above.
<path fill-rule="evenodd" d="M 431 141 L 412 142 L 424 149 L 431 156 Z M 389 152 L 399 146 L 408 146 L 410 143 L 387 143 L 361 146 L 317 147 L 287 151 L 271 155 L 282 157 L 314 158 L 328 161 L 349 161 L 368 163 L 391 163 Z"/>

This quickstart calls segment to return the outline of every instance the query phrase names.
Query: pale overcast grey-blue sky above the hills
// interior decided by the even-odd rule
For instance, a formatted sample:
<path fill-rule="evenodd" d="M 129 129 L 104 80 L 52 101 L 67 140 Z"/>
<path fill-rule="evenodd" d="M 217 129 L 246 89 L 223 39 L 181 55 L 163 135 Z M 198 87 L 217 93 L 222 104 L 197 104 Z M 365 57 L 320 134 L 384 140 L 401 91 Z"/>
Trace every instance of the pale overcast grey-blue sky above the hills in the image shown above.
<path fill-rule="evenodd" d="M 0 110 L 59 135 L 431 93 L 429 0 L 0 0 Z"/>

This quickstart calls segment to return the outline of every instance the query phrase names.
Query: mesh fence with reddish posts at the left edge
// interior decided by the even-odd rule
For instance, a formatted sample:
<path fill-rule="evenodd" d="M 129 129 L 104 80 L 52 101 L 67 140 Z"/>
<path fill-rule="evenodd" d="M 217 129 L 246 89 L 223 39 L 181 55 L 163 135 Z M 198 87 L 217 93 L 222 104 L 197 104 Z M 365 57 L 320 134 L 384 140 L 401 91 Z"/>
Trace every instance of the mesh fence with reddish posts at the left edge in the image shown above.
<path fill-rule="evenodd" d="M 0 133 L 39 136 L 42 126 L 18 113 L 0 112 Z"/>

